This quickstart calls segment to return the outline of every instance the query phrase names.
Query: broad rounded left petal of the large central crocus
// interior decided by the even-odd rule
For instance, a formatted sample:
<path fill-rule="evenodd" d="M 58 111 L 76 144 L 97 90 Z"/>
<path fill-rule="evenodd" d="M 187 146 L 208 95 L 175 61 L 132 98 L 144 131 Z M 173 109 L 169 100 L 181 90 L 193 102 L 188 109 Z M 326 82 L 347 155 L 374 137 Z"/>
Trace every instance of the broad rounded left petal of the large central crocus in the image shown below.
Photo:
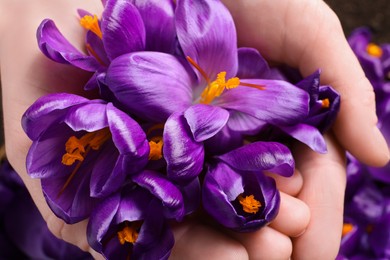
<path fill-rule="evenodd" d="M 159 52 L 122 55 L 104 82 L 122 106 L 154 122 L 165 121 L 192 102 L 192 79 L 179 58 Z"/>

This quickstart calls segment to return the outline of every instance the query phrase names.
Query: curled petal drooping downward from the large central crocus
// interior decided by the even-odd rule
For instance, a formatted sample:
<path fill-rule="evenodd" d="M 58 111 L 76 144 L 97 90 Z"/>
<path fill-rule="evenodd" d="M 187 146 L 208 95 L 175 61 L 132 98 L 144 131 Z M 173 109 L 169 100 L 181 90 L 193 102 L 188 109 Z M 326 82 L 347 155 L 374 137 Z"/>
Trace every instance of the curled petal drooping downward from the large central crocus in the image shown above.
<path fill-rule="evenodd" d="M 186 119 L 180 113 L 168 118 L 164 126 L 163 154 L 167 175 L 178 182 L 192 181 L 203 168 L 204 148 L 193 139 Z"/>

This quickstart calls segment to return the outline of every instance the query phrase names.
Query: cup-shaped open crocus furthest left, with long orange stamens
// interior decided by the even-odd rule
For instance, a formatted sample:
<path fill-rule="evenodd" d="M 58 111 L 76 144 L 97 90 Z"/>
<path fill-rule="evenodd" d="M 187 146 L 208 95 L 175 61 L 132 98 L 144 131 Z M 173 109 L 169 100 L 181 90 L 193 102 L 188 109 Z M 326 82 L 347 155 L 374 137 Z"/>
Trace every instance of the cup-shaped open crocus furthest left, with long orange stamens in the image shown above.
<path fill-rule="evenodd" d="M 25 112 L 22 125 L 33 141 L 27 171 L 42 180 L 49 206 L 67 223 L 87 218 L 99 198 L 148 162 L 142 128 L 102 100 L 47 95 Z"/>

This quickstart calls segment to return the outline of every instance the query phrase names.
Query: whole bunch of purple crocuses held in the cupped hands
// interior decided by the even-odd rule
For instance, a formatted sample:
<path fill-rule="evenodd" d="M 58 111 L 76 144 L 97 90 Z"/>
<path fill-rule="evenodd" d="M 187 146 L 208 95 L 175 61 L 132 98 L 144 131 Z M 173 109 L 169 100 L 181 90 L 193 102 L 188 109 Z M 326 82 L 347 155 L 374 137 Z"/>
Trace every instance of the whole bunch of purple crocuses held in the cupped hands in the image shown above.
<path fill-rule="evenodd" d="M 270 176 L 293 174 L 293 141 L 326 152 L 339 95 L 319 71 L 293 84 L 238 48 L 218 0 L 102 2 L 101 16 L 79 10 L 85 52 L 52 20 L 38 28 L 48 58 L 91 72 L 85 95 L 41 97 L 22 119 L 50 208 L 89 218 L 109 259 L 168 258 L 168 222 L 200 209 L 235 231 L 267 225 L 280 204 Z"/>

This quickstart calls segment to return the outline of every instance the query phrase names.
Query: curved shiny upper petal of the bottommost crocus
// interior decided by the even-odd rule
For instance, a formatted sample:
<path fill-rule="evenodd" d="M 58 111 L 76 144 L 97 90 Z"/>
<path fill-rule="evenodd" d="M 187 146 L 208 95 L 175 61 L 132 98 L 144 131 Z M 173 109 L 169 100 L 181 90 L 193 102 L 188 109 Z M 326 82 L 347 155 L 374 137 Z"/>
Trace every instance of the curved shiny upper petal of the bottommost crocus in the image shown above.
<path fill-rule="evenodd" d="M 167 218 L 176 218 L 178 221 L 183 218 L 184 203 L 180 190 L 160 173 L 145 170 L 133 175 L 132 180 L 162 202 L 164 209 L 167 209 Z"/>

